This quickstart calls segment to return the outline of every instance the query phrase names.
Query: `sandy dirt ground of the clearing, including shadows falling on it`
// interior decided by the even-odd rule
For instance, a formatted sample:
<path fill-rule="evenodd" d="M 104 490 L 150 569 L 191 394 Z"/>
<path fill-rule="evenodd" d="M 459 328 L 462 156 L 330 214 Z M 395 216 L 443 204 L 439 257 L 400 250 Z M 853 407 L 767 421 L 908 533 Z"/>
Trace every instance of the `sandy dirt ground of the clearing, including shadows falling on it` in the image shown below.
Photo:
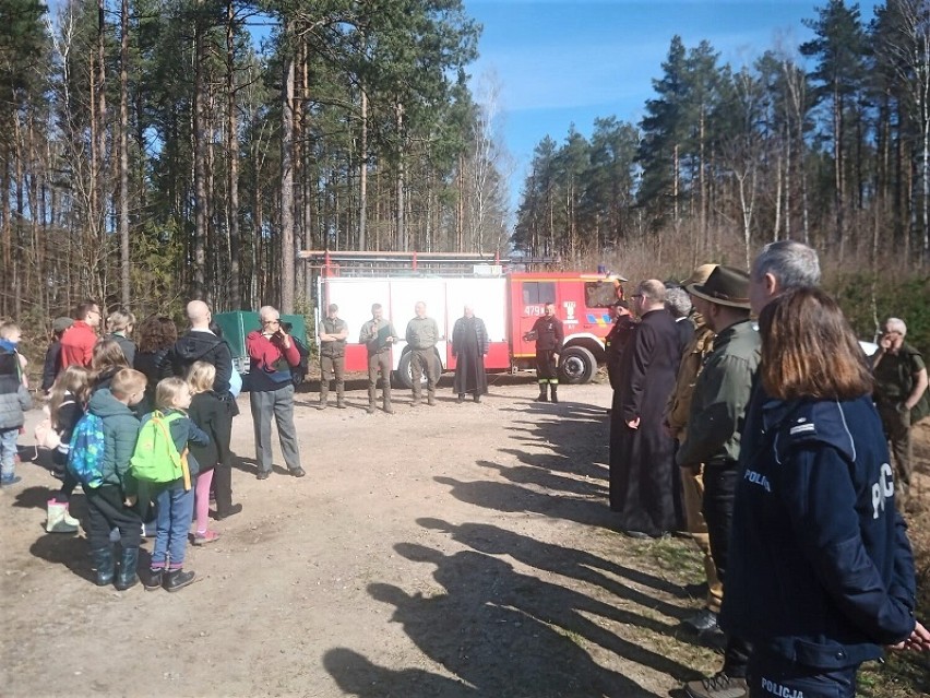
<path fill-rule="evenodd" d="M 501 376 L 456 404 L 448 381 L 434 407 L 395 390 L 394 415 L 367 415 L 359 381 L 342 411 L 305 387 L 302 480 L 279 458 L 255 480 L 240 399 L 245 510 L 189 548 L 175 594 L 95 587 L 84 533 L 43 528 L 56 481 L 22 463 L 0 494 L 0 695 L 668 696 L 715 670 L 678 627 L 700 606 L 691 543 L 611 530 L 608 387 L 539 404 Z"/>

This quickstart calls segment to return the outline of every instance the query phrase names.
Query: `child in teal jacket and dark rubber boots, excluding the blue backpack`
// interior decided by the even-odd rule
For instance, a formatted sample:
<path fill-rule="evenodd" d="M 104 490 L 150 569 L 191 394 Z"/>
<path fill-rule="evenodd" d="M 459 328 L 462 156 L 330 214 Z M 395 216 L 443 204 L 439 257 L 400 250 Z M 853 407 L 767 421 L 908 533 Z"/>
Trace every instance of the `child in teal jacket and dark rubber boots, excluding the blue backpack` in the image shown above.
<path fill-rule="evenodd" d="M 91 528 L 91 561 L 97 571 L 98 587 L 114 582 L 120 591 L 139 582 L 135 568 L 139 563 L 139 544 L 142 520 L 133 505 L 135 480 L 129 472 L 129 461 L 139 436 L 139 417 L 131 407 L 145 394 L 145 375 L 123 368 L 114 375 L 109 388 L 97 390 L 87 405 L 88 414 L 103 423 L 103 453 L 99 461 L 97 486 L 84 484 Z M 110 531 L 119 529 L 121 546 L 119 571 L 116 569 Z M 116 579 L 114 579 L 116 578 Z"/>

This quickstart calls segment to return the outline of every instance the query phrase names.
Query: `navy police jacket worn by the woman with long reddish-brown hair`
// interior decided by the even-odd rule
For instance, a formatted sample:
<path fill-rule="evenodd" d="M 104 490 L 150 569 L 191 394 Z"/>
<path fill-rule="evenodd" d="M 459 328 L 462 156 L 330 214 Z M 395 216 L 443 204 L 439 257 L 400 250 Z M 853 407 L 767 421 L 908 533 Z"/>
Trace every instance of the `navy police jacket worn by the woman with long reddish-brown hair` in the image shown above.
<path fill-rule="evenodd" d="M 914 630 L 915 577 L 871 397 L 763 404 L 755 393 L 720 625 L 806 666 L 878 659 Z"/>

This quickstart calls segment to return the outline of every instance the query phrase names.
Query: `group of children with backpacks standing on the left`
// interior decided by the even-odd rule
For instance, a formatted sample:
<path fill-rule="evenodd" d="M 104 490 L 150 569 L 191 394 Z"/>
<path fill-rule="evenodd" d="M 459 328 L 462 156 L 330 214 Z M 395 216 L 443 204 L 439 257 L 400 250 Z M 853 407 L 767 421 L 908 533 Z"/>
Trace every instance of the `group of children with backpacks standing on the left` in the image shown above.
<path fill-rule="evenodd" d="M 24 362 L 16 351 L 19 339 L 14 324 L 0 326 L 4 486 L 21 480 L 14 472 L 16 440 L 24 412 L 32 406 Z M 62 480 L 48 501 L 46 528 L 56 533 L 78 530 L 68 505 L 80 484 L 87 502 L 91 560 L 98 585 L 114 583 L 124 590 L 139 582 L 139 547 L 147 522 L 155 528 L 151 565 L 143 580 L 148 590 L 164 587 L 176 591 L 193 581 L 194 572 L 183 569 L 192 521 L 194 545 L 218 537 L 207 527 L 211 481 L 218 461 L 215 425 L 220 404 L 212 389 L 215 375 L 214 366 L 195 362 L 187 380 L 162 379 L 154 391 L 154 411 L 140 414 L 147 379 L 129 367 L 115 341 L 105 339 L 94 346 L 90 368 L 71 365 L 55 379 L 48 394 L 47 429 L 37 429 L 37 441 L 51 449 L 56 476 Z M 165 430 L 176 456 L 182 454 L 182 474 L 169 482 L 148 482 L 134 472 L 140 433 L 150 421 Z M 169 454 L 159 451 L 155 457 L 167 459 Z"/>

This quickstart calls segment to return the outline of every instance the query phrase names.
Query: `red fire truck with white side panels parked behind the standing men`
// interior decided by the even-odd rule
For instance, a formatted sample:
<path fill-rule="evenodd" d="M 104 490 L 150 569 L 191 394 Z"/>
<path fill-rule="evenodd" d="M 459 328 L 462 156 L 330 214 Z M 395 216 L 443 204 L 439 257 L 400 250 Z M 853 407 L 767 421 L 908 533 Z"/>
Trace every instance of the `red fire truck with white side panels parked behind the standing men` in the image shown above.
<path fill-rule="evenodd" d="M 544 313 L 547 303 L 565 330 L 561 379 L 568 383 L 591 380 L 604 362 L 604 338 L 610 330 L 609 307 L 623 297 L 622 276 L 611 273 L 522 271 L 551 260 L 501 260 L 477 255 L 425 252 L 306 251 L 299 257 L 310 267 L 308 279 L 315 298 L 317 327 L 325 308 L 335 303 L 348 323 L 346 370 L 367 370 L 366 347 L 358 343 L 361 324 L 380 303 L 384 317 L 403 338 L 418 300 L 443 333 L 437 353 L 443 370 L 455 368 L 451 336 L 466 305 L 484 320 L 490 350 L 489 371 L 535 368 L 536 348 L 523 335 Z M 406 343 L 394 345 L 396 379 L 410 387 L 410 355 Z"/>

